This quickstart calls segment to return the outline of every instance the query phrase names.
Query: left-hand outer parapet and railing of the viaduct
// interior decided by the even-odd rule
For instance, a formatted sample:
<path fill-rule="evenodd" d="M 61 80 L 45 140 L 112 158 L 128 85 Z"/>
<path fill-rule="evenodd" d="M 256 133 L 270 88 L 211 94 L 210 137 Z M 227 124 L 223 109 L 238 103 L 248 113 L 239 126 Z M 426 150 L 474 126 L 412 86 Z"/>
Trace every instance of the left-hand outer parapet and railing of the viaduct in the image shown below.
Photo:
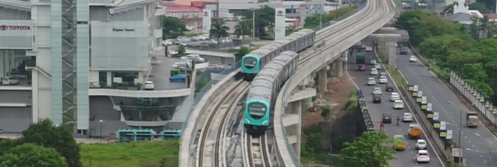
<path fill-rule="evenodd" d="M 220 77 L 220 78 L 218 78 L 219 80 L 211 80 L 211 82 L 207 83 L 207 84 L 206 84 L 206 85 L 205 85 L 205 86 L 204 86 L 204 87 L 203 87 L 203 88 L 202 88 L 202 89 L 198 92 L 197 96 L 196 96 L 196 97 L 195 97 L 195 99 L 193 100 L 193 104 L 192 104 L 192 106 L 191 106 L 190 110 L 188 111 L 188 115 L 186 116 L 185 122 L 183 123 L 183 127 L 181 128 L 181 130 L 182 130 L 182 131 L 185 131 L 185 128 L 186 128 L 186 127 L 187 127 L 190 123 L 192 123 L 192 124 L 196 124 L 196 123 L 198 123 L 198 121 L 197 121 L 197 120 L 198 120 L 198 119 L 201 119 L 201 117 L 199 117 L 199 118 L 197 118 L 197 120 L 190 120 L 190 117 L 191 117 L 191 115 L 192 115 L 193 111 L 195 110 L 195 108 L 197 107 L 198 103 L 199 103 L 199 102 L 202 100 L 202 98 L 205 96 L 205 94 L 206 94 L 209 90 L 211 90 L 211 88 L 212 88 L 215 84 L 217 84 L 217 83 L 219 83 L 220 81 L 222 81 L 223 79 L 225 79 L 225 78 L 226 78 L 226 76 L 228 76 L 229 74 L 231 74 L 231 73 L 233 73 L 234 71 L 238 70 L 238 69 L 240 68 L 240 66 L 241 66 L 241 61 L 236 62 L 236 63 L 235 63 L 235 66 L 232 66 L 231 68 L 226 69 L 226 70 L 224 70 L 223 72 L 219 73 L 219 76 L 224 76 L 224 77 Z M 218 76 L 218 77 L 219 77 L 219 76 Z M 221 92 L 221 91 L 219 91 L 219 92 Z M 215 97 L 216 95 L 215 95 L 215 94 L 212 94 L 212 96 L 213 96 L 213 97 Z M 214 98 L 213 98 L 213 99 L 214 99 Z M 208 105 L 206 105 L 206 106 L 208 106 Z M 203 111 L 205 111 L 205 110 L 201 110 L 201 112 L 203 112 Z M 201 114 L 200 114 L 200 115 L 201 115 Z M 183 135 L 184 135 L 184 134 L 185 134 L 185 133 L 182 133 L 182 134 L 181 134 L 181 139 L 183 138 Z M 191 137 L 191 139 L 195 138 L 195 137 L 194 137 L 194 135 L 195 135 L 195 133 L 194 133 L 194 132 L 192 132 L 192 133 L 191 133 L 191 136 L 190 136 L 190 137 Z M 194 140 L 191 140 L 190 142 L 193 142 L 193 141 L 194 141 Z M 191 145 L 191 143 L 189 144 L 189 146 L 190 146 L 190 145 Z M 182 150 L 182 149 L 190 149 L 190 148 L 189 148 L 189 147 L 188 147 L 188 148 L 183 148 L 183 147 L 180 147 L 180 148 L 179 148 L 179 153 L 180 153 L 180 154 L 179 154 L 179 160 L 180 160 L 180 161 L 179 161 L 179 163 L 181 163 L 181 150 Z"/>

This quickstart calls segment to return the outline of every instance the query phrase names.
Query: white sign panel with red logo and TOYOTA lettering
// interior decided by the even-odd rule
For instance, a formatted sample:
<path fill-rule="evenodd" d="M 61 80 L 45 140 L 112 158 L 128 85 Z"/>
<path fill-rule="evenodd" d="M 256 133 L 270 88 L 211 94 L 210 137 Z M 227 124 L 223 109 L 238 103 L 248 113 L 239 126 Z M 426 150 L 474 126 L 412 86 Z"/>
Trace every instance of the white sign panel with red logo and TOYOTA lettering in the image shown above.
<path fill-rule="evenodd" d="M 32 49 L 32 20 L 0 20 L 0 49 Z"/>

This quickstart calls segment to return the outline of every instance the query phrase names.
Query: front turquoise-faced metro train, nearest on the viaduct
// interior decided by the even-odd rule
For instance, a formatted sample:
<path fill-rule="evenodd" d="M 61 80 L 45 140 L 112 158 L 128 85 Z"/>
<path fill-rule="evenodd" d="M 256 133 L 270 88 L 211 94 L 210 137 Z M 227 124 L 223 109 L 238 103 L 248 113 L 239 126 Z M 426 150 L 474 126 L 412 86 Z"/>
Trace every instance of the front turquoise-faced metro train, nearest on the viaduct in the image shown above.
<path fill-rule="evenodd" d="M 252 134 L 264 132 L 270 113 L 283 84 L 297 71 L 299 54 L 284 51 L 267 63 L 253 79 L 245 104 L 244 127 Z"/>

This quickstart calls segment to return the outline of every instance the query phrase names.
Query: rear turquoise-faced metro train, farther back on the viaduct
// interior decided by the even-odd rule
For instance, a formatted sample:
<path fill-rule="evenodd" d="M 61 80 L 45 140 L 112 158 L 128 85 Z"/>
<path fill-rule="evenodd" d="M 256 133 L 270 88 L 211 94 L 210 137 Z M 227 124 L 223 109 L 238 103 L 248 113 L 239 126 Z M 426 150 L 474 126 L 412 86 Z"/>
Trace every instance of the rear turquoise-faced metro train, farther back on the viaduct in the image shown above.
<path fill-rule="evenodd" d="M 241 73 L 246 81 L 252 81 L 260 72 L 260 69 L 280 53 L 284 51 L 300 53 L 312 47 L 315 42 L 316 31 L 314 30 L 302 29 L 292 33 L 283 39 L 259 47 L 242 57 Z"/>

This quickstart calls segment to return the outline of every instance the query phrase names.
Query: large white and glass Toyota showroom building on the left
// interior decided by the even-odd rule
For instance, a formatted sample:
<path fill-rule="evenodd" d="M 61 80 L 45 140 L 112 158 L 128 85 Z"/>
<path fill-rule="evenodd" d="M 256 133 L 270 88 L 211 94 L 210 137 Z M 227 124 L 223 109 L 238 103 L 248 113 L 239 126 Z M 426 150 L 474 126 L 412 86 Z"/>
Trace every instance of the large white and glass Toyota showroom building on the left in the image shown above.
<path fill-rule="evenodd" d="M 188 95 L 190 90 L 90 89 L 89 83 L 110 86 L 119 75 L 123 81 L 127 77 L 130 83 L 143 83 L 154 51 L 163 47 L 158 16 L 164 14 L 157 0 L 0 0 L 0 78 L 27 78 L 23 85 L 0 85 L 0 129 L 18 132 L 50 118 L 88 135 L 90 120 L 98 115 L 90 114 L 90 96 L 106 96 L 109 103 L 112 98 L 114 104 L 100 108 L 120 108 L 97 120 L 124 122 L 132 116 L 126 116 L 125 107 L 115 107 L 123 98 Z M 133 125 L 141 125 L 143 117 L 138 123 L 132 120 Z"/>

